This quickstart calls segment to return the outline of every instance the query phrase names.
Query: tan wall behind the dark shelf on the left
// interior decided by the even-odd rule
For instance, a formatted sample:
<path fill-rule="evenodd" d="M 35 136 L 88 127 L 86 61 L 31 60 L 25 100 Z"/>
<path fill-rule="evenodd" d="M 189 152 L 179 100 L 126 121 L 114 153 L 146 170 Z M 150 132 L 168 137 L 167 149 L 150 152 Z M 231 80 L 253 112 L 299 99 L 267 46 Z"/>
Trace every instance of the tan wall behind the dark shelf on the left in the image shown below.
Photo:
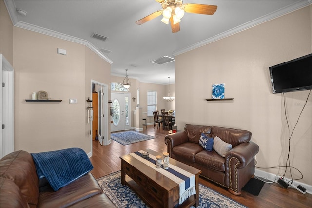
<path fill-rule="evenodd" d="M 86 98 L 91 92 L 90 79 L 109 83 L 109 64 L 78 43 L 18 27 L 14 27 L 13 34 L 15 150 L 40 152 L 79 147 L 89 153 Z M 57 54 L 57 48 L 67 50 L 67 55 Z M 39 90 L 46 91 L 51 99 L 63 101 L 25 102 Z M 76 98 L 78 103 L 69 104 L 70 98 Z"/>

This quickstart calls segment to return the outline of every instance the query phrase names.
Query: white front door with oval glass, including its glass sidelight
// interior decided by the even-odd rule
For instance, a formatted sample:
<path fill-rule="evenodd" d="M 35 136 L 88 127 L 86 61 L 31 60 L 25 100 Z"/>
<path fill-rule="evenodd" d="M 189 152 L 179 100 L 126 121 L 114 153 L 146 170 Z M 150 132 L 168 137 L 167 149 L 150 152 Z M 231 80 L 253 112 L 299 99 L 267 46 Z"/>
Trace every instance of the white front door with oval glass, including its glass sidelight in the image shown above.
<path fill-rule="evenodd" d="M 130 129 L 130 93 L 111 93 L 113 116 L 111 132 Z"/>

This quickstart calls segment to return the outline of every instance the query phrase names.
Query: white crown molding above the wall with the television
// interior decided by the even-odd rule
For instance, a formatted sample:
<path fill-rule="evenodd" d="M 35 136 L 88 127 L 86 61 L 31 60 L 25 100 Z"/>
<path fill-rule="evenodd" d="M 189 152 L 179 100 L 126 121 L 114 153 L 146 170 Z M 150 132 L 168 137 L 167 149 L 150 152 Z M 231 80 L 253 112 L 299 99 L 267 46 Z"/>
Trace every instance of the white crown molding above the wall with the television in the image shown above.
<path fill-rule="evenodd" d="M 220 33 L 220 34 L 218 34 L 218 35 L 216 35 L 214 37 L 211 37 L 209 39 L 203 40 L 201 42 L 197 42 L 197 43 L 195 43 L 193 45 L 190 45 L 188 47 L 176 50 L 172 54 L 174 56 L 177 56 L 177 55 L 180 55 L 182 53 L 186 53 L 188 51 L 194 50 L 194 49 L 199 48 L 201 46 L 207 45 L 209 43 L 218 41 L 220 39 L 223 39 L 223 38 L 229 37 L 231 35 L 234 35 L 236 33 L 239 33 L 239 32 L 241 32 L 243 30 L 246 30 L 246 29 L 249 29 L 251 27 L 254 27 L 254 26 L 258 25 L 258 24 L 264 23 L 266 21 L 273 20 L 275 18 L 278 18 L 278 17 L 281 17 L 281 16 L 286 15 L 288 13 L 291 13 L 291 12 L 293 12 L 295 10 L 298 10 L 298 9 L 303 8 L 303 7 L 309 6 L 310 4 L 312 4 L 312 0 L 302 0 L 302 1 L 295 2 L 295 3 L 293 3 L 293 4 L 289 5 L 289 6 L 281 8 L 281 9 L 279 9 L 279 10 L 277 10 L 275 12 L 272 12 L 272 13 L 270 13 L 268 15 L 262 16 L 260 18 L 257 18 L 255 20 L 253 20 L 253 21 L 249 21 L 247 23 L 244 23 L 242 25 L 234 27 L 231 30 L 225 31 L 223 33 Z"/>

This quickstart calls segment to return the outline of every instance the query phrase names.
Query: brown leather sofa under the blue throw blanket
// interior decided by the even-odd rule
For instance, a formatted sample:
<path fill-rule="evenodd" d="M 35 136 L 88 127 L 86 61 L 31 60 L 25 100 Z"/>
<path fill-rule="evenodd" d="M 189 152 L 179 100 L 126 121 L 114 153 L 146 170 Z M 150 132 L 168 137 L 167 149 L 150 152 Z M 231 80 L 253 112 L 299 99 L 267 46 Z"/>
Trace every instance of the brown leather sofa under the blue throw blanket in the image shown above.
<path fill-rule="evenodd" d="M 116 208 L 90 172 L 58 191 L 39 187 L 33 158 L 26 151 L 4 156 L 0 173 L 1 208 Z"/>

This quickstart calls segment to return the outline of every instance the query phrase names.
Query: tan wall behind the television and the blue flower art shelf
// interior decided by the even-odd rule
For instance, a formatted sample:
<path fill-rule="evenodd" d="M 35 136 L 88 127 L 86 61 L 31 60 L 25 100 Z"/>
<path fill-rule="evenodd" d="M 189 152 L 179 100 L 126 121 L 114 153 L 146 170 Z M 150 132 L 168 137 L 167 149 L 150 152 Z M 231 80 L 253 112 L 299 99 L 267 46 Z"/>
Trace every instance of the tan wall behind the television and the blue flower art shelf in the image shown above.
<path fill-rule="evenodd" d="M 288 129 L 283 95 L 272 93 L 269 67 L 310 54 L 311 36 L 310 6 L 176 56 L 176 71 L 180 72 L 176 73 L 179 129 L 191 123 L 250 130 L 252 141 L 260 146 L 256 166 L 285 166 Z M 234 101 L 205 100 L 211 98 L 212 84 L 217 83 L 225 83 L 225 97 Z M 308 94 L 285 93 L 291 131 Z M 300 181 L 310 185 L 311 126 L 312 95 L 290 140 L 291 165 L 303 173 Z M 281 175 L 285 168 L 264 171 Z M 286 176 L 290 178 L 289 169 Z M 292 177 L 301 175 L 292 169 Z"/>

